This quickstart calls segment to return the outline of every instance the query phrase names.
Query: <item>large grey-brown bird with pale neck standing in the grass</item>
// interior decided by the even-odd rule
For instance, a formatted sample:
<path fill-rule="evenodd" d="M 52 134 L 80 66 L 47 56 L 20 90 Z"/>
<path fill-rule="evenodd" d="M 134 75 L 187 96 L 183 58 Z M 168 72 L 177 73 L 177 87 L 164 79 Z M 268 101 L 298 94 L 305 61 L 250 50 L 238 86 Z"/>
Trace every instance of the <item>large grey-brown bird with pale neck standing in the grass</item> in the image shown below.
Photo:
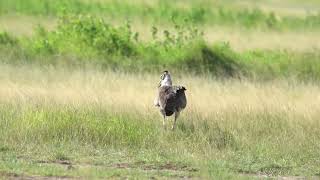
<path fill-rule="evenodd" d="M 175 129 L 177 118 L 180 112 L 187 106 L 187 98 L 184 86 L 172 86 L 172 79 L 169 71 L 163 71 L 158 85 L 158 95 L 154 105 L 160 108 L 163 116 L 163 127 L 166 129 L 166 117 L 174 114 L 172 130 Z"/>

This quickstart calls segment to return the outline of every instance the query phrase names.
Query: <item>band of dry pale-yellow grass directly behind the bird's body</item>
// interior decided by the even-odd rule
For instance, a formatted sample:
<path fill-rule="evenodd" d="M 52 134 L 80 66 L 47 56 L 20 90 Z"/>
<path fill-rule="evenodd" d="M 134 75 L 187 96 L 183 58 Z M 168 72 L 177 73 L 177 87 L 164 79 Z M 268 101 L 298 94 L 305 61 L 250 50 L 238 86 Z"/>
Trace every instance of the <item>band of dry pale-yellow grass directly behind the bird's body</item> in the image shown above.
<path fill-rule="evenodd" d="M 283 112 L 312 117 L 320 112 L 320 87 L 279 80 L 256 83 L 217 81 L 206 77 L 177 76 L 174 84 L 187 88 L 188 106 L 183 116 L 214 118 L 219 113 Z M 153 107 L 159 74 L 127 74 L 94 70 L 56 70 L 34 67 L 0 67 L 3 103 L 98 104 L 120 112 L 155 115 Z M 160 116 L 159 116 L 160 119 Z M 312 118 L 310 118 L 312 119 Z"/>

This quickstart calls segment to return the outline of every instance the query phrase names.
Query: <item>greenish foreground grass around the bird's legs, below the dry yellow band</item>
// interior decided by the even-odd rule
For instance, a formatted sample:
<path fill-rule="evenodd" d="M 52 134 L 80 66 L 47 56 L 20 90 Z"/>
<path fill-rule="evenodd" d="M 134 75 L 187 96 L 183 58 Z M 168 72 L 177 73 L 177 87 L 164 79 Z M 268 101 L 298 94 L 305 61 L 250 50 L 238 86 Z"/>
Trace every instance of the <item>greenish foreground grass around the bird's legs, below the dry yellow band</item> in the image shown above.
<path fill-rule="evenodd" d="M 137 114 L 95 105 L 2 104 L 0 170 L 84 177 L 314 176 L 320 171 L 318 116 L 231 110 L 215 118 L 183 117 L 170 132 L 160 128 L 158 116 Z"/>

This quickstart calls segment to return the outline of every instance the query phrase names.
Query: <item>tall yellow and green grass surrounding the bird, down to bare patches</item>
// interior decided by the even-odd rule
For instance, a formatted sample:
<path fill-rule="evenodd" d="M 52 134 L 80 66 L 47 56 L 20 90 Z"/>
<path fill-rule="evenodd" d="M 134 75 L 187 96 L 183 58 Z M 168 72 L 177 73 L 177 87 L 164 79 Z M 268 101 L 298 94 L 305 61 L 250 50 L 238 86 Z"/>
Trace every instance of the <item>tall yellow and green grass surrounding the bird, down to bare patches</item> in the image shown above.
<path fill-rule="evenodd" d="M 1 77 L 1 146 L 18 154 L 40 147 L 55 154 L 56 145 L 62 155 L 38 159 L 81 162 L 75 155 L 90 146 L 135 153 L 133 161 L 187 163 L 213 176 L 217 168 L 319 173 L 317 85 L 173 76 L 187 87 L 188 106 L 170 132 L 152 105 L 157 75 L 1 66 Z"/>

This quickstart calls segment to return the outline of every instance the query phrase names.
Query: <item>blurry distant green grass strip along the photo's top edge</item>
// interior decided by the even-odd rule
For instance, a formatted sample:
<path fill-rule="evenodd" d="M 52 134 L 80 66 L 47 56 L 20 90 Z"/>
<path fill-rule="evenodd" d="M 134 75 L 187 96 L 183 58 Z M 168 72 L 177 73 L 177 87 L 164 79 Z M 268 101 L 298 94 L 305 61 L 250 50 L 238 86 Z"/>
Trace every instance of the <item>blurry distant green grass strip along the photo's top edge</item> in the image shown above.
<path fill-rule="evenodd" d="M 144 19 L 151 22 L 176 22 L 187 24 L 227 25 L 243 28 L 274 30 L 319 29 L 319 15 L 306 17 L 279 16 L 258 8 L 230 8 L 223 3 L 190 1 L 182 7 L 179 3 L 155 1 L 130 3 L 123 1 L 84 2 L 80 0 L 2 0 L 0 14 L 59 16 L 64 13 L 95 14 L 110 20 L 116 18 Z"/>

